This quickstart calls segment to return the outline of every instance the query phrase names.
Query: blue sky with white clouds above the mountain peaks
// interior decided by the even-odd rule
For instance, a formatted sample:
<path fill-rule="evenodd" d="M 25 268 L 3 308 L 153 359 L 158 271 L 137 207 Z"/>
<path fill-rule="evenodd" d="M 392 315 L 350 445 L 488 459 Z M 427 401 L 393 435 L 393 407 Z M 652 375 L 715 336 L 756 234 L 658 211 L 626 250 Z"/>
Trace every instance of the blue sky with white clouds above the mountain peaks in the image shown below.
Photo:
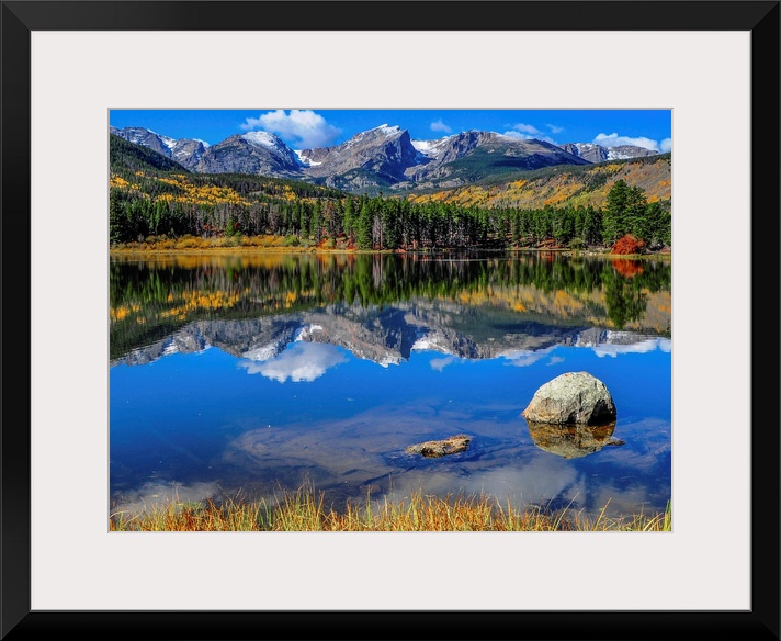
<path fill-rule="evenodd" d="M 145 127 L 171 138 L 199 138 L 214 145 L 249 131 L 276 134 L 293 149 L 343 143 L 354 134 L 387 124 L 408 130 L 414 140 L 431 140 L 483 130 L 555 144 L 637 145 L 669 151 L 670 110 L 111 110 L 111 125 Z"/>

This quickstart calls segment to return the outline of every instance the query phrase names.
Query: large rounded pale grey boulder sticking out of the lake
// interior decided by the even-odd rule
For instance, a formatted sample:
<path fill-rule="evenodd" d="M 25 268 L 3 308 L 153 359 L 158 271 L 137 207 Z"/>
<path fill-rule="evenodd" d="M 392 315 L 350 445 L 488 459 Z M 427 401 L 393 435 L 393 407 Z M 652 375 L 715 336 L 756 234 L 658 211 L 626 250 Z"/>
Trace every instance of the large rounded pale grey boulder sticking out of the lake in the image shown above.
<path fill-rule="evenodd" d="M 602 381 L 588 372 L 567 372 L 540 387 L 521 416 L 532 423 L 605 425 L 616 413 Z"/>

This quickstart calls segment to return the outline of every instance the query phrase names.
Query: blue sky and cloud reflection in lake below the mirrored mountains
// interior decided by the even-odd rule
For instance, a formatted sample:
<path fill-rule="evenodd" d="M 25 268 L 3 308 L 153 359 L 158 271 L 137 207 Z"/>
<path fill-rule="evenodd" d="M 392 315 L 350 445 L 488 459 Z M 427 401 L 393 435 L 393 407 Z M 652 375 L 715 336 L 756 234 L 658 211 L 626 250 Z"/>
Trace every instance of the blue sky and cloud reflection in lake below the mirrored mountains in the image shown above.
<path fill-rule="evenodd" d="M 488 492 L 588 509 L 664 509 L 670 491 L 670 350 L 555 347 L 487 360 L 414 351 L 378 364 L 347 349 L 296 341 L 265 360 L 210 348 L 112 369 L 114 498 L 149 502 L 154 481 L 181 497 L 206 486 L 268 496 L 312 481 L 333 501 Z M 650 348 L 653 346 L 653 349 Z M 520 413 L 534 391 L 566 371 L 589 371 L 619 409 L 625 441 L 566 460 L 537 447 Z M 444 459 L 404 453 L 455 434 L 469 449 Z M 197 494 L 197 492 L 195 493 Z"/>

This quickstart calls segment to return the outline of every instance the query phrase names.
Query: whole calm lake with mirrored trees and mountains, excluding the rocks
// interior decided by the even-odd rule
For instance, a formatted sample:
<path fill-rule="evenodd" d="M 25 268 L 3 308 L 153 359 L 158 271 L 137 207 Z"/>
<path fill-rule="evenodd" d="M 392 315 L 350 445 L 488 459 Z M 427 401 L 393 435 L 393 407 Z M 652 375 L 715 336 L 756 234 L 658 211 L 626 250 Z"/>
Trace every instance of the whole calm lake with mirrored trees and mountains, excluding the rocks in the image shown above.
<path fill-rule="evenodd" d="M 670 281 L 669 260 L 555 252 L 112 256 L 110 508 L 308 484 L 337 508 L 663 511 Z M 607 385 L 614 427 L 528 425 L 575 371 Z M 460 453 L 405 451 L 462 434 Z"/>

